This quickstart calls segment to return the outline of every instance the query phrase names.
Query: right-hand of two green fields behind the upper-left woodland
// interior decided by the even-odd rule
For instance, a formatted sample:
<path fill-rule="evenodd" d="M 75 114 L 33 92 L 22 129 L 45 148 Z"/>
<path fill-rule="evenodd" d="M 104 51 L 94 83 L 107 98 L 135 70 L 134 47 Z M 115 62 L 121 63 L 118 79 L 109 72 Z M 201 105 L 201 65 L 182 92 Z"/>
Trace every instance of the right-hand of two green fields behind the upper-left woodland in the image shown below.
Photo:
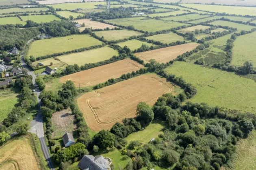
<path fill-rule="evenodd" d="M 50 22 L 50 21 L 61 21 L 58 17 L 55 15 L 29 15 L 29 16 L 20 16 L 23 21 L 27 20 L 32 20 L 35 21 L 36 23 L 45 23 L 45 22 Z"/>

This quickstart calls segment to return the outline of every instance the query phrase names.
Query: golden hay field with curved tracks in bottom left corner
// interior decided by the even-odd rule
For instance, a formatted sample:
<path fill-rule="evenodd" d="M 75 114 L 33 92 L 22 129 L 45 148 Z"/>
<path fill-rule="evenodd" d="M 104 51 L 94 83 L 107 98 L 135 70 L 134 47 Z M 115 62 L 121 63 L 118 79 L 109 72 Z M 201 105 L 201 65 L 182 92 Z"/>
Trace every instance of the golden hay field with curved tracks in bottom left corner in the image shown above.
<path fill-rule="evenodd" d="M 1 170 L 39 170 L 37 159 L 26 137 L 10 140 L 0 147 Z"/>

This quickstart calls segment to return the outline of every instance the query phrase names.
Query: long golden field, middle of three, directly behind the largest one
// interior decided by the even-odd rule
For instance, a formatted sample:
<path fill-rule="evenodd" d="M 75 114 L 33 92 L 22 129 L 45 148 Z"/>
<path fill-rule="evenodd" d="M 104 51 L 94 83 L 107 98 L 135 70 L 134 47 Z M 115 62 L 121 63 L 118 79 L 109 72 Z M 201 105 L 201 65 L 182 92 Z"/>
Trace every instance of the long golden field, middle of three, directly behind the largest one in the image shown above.
<path fill-rule="evenodd" d="M 93 86 L 108 79 L 116 79 L 122 74 L 137 71 L 144 66 L 130 59 L 121 60 L 104 66 L 91 68 L 89 70 L 69 74 L 61 77 L 60 82 L 73 81 L 76 87 Z"/>

